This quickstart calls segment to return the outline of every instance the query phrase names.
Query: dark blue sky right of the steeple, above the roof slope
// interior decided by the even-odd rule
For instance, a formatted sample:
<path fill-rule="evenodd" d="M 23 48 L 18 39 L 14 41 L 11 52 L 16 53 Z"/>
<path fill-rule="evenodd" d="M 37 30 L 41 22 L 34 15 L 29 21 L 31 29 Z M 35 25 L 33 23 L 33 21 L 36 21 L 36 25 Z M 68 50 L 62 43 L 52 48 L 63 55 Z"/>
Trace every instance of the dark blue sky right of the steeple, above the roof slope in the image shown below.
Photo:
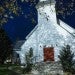
<path fill-rule="evenodd" d="M 64 13 L 59 13 L 57 17 L 75 28 L 75 0 L 56 0 L 56 6 L 57 10 Z"/>

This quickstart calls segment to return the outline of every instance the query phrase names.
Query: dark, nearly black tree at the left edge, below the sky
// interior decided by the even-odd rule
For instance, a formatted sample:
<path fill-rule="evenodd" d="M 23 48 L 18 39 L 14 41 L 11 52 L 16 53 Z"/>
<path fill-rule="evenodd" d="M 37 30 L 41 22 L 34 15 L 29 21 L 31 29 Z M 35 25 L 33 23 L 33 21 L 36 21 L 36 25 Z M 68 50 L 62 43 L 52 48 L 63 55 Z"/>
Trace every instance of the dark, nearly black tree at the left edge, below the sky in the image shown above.
<path fill-rule="evenodd" d="M 5 31 L 0 28 L 0 64 L 3 64 L 4 61 L 11 56 L 12 54 L 12 45 L 11 41 L 6 35 Z"/>

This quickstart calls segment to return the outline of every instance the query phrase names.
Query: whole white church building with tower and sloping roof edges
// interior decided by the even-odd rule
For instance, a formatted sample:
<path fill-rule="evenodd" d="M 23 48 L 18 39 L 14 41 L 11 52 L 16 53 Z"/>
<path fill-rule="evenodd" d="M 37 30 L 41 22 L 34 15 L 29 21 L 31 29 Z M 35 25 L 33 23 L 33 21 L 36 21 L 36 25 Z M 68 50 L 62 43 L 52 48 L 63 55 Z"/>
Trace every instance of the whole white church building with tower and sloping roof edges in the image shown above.
<path fill-rule="evenodd" d="M 40 0 L 40 2 L 42 1 Z M 25 62 L 25 53 L 30 48 L 33 48 L 36 62 L 44 61 L 45 57 L 47 58 L 45 50 L 46 52 L 47 50 L 53 51 L 53 57 L 50 58 L 58 61 L 59 51 L 67 44 L 75 52 L 75 29 L 60 20 L 60 25 L 57 24 L 55 3 L 40 4 L 36 7 L 38 11 L 38 25 L 26 37 L 24 44 L 21 46 L 21 51 L 17 51 L 20 55 L 21 63 Z"/>

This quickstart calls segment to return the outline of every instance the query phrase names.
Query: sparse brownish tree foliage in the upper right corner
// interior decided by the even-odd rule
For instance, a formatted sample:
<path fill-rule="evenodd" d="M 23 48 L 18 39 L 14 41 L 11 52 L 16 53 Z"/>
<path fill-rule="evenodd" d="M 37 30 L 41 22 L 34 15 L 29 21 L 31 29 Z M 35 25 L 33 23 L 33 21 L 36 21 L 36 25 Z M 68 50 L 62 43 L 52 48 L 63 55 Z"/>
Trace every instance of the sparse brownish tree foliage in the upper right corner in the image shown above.
<path fill-rule="evenodd" d="M 61 15 L 63 18 L 74 14 L 75 0 L 56 0 L 56 12 L 57 15 Z"/>

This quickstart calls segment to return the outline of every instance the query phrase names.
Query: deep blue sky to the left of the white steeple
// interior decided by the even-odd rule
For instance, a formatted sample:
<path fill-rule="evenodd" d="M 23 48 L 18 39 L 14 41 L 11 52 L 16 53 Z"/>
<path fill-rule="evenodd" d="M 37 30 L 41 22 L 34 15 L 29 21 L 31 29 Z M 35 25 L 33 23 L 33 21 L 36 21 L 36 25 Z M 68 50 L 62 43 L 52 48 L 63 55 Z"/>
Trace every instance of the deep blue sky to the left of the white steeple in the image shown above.
<path fill-rule="evenodd" d="M 38 3 L 38 1 L 36 1 Z M 13 19 L 8 19 L 8 22 L 3 25 L 4 30 L 10 37 L 12 42 L 16 40 L 25 40 L 25 37 L 31 32 L 31 30 L 38 23 L 38 14 L 35 8 L 35 4 L 30 6 L 30 3 L 18 2 L 18 5 L 22 9 L 22 13 L 19 16 L 14 16 Z M 35 20 L 32 22 L 32 20 Z"/>

